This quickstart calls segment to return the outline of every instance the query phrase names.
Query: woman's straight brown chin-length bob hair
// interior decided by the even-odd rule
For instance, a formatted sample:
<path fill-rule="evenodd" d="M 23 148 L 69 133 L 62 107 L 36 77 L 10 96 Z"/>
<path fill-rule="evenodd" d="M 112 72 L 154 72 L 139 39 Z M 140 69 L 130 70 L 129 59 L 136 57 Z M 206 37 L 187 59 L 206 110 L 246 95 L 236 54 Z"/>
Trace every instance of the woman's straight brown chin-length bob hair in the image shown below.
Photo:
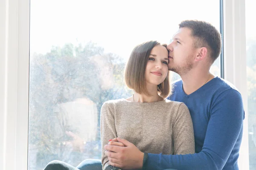
<path fill-rule="evenodd" d="M 125 84 L 128 88 L 133 89 L 138 94 L 150 96 L 146 88 L 145 69 L 149 55 L 152 49 L 157 45 L 161 45 L 160 42 L 148 41 L 137 45 L 131 52 L 128 62 L 126 63 L 124 76 Z M 165 47 L 167 46 L 166 44 L 162 45 Z M 158 94 L 163 98 L 168 97 L 171 93 L 169 79 L 168 71 L 166 79 L 161 84 L 157 85 Z"/>

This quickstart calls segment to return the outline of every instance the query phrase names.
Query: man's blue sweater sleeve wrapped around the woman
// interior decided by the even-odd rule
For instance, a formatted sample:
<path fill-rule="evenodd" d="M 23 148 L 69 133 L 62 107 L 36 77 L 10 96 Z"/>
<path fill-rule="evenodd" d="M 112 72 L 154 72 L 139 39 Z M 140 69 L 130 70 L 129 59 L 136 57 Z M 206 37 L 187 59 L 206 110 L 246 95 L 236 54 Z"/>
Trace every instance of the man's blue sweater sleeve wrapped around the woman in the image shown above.
<path fill-rule="evenodd" d="M 244 109 L 241 94 L 229 89 L 211 106 L 210 119 L 200 153 L 187 155 L 148 154 L 148 170 L 221 170 L 242 130 Z"/>

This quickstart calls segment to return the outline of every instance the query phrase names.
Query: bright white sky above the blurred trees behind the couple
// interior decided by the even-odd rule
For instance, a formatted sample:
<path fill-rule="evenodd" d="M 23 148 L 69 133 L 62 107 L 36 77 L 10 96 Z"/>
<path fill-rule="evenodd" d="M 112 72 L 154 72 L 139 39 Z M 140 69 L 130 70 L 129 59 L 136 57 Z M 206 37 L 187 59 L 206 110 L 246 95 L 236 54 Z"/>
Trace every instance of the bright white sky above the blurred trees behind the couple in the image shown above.
<path fill-rule="evenodd" d="M 45 54 L 52 45 L 92 40 L 105 52 L 128 58 L 141 42 L 169 43 L 186 19 L 205 20 L 219 29 L 219 1 L 31 0 L 30 51 Z"/>

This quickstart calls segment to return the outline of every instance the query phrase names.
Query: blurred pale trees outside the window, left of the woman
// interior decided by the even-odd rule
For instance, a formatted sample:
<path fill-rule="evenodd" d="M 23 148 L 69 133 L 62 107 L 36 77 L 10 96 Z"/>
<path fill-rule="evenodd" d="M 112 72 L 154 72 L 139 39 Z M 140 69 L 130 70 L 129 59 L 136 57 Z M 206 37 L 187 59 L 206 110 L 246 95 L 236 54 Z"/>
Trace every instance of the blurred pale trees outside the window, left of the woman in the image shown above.
<path fill-rule="evenodd" d="M 29 147 L 37 150 L 36 167 L 31 169 L 43 169 L 55 159 L 77 166 L 84 159 L 101 158 L 101 106 L 111 99 L 126 98 L 132 92 L 123 83 L 124 67 L 124 59 L 113 53 L 104 53 L 104 48 L 93 42 L 84 46 L 54 46 L 45 55 L 33 54 L 30 57 Z M 83 142 L 81 139 L 82 150 L 74 150 L 72 145 L 79 143 L 74 139 L 83 136 L 79 126 L 93 120 L 88 117 L 85 121 L 89 122 L 81 119 L 76 120 L 77 125 L 70 124 L 69 120 L 75 120 L 72 116 L 77 116 L 77 113 L 72 113 L 76 111 L 72 108 L 74 101 L 76 106 L 90 108 L 90 113 L 84 114 L 96 116 L 96 124 L 91 124 L 96 125 L 96 129 L 93 132 L 84 130 L 87 137 L 90 135 L 90 140 L 87 138 L 89 141 Z M 72 108 L 69 109 L 71 113 L 68 113 L 67 105 Z M 74 137 L 71 133 L 80 133 L 81 136 Z"/>

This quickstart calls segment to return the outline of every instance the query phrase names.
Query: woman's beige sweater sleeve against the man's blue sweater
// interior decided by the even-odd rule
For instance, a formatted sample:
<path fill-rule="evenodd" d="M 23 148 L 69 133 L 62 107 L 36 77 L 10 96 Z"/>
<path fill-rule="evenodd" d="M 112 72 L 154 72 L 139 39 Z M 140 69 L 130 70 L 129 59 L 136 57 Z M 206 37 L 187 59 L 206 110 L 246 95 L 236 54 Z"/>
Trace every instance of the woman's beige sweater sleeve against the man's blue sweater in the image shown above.
<path fill-rule="evenodd" d="M 189 109 L 181 103 L 172 129 L 174 154 L 195 153 L 195 138 Z"/>

